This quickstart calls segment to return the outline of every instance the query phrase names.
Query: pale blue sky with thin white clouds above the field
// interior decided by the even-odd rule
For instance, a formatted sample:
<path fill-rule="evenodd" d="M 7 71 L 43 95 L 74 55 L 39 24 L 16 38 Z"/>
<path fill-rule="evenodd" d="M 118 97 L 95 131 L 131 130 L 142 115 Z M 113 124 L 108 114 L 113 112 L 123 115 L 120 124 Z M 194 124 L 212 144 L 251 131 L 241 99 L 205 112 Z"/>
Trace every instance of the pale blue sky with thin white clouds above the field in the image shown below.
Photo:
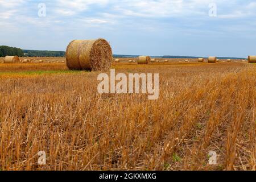
<path fill-rule="evenodd" d="M 255 0 L 0 0 L 0 25 L 0 45 L 22 49 L 104 38 L 123 55 L 256 55 Z"/>

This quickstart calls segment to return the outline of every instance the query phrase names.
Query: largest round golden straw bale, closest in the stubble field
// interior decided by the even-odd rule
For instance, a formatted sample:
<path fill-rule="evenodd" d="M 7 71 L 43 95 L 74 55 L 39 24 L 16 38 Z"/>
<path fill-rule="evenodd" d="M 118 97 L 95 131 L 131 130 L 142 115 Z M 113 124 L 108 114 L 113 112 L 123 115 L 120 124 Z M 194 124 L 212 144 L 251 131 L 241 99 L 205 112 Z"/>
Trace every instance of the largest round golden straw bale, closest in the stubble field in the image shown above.
<path fill-rule="evenodd" d="M 73 40 L 66 51 L 69 69 L 106 71 L 112 63 L 112 48 L 105 39 Z"/>

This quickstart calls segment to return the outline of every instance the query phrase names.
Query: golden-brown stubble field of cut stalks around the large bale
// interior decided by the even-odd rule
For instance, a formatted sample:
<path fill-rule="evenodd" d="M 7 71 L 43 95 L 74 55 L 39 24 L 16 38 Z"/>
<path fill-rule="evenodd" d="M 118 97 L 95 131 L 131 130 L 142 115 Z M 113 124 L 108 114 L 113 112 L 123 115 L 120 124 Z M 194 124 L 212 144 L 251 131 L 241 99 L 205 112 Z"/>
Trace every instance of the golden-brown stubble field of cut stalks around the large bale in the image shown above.
<path fill-rule="evenodd" d="M 255 170 L 255 64 L 112 68 L 159 73 L 159 99 L 98 94 L 100 72 L 64 63 L 0 64 L 0 170 Z"/>

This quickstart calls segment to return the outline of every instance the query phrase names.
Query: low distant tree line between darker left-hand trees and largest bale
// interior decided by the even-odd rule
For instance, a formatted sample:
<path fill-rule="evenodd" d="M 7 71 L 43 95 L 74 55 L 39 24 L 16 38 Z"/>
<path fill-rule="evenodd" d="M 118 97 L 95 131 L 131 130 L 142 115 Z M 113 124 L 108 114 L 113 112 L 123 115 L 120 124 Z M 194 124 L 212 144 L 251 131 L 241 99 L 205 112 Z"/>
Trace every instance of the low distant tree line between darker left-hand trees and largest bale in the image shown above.
<path fill-rule="evenodd" d="M 23 50 L 24 56 L 28 57 L 64 57 L 64 51 L 36 51 L 36 50 Z"/>

